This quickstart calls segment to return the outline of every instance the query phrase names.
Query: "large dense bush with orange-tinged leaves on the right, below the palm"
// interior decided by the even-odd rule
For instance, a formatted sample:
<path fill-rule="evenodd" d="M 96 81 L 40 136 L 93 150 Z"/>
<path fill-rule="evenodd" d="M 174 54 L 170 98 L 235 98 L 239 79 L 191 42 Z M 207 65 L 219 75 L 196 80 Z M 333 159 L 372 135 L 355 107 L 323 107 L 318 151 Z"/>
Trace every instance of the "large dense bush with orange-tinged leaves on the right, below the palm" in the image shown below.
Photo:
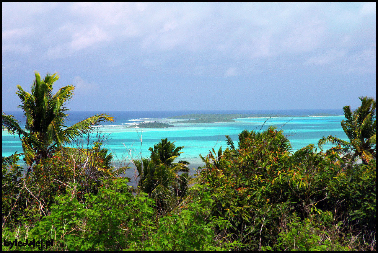
<path fill-rule="evenodd" d="M 239 149 L 226 149 L 214 160 L 218 165 L 204 168 L 198 179 L 214 200 L 211 216 L 230 221 L 222 233 L 241 242 L 240 249 L 277 245 L 280 228 L 294 213 L 301 221 L 328 227 L 341 222 L 354 234 L 375 233 L 375 162 L 342 168 L 332 151 L 298 160 L 282 145 L 279 131 L 270 128 L 261 136 L 247 136 Z M 358 244 L 366 246 L 361 236 Z"/>

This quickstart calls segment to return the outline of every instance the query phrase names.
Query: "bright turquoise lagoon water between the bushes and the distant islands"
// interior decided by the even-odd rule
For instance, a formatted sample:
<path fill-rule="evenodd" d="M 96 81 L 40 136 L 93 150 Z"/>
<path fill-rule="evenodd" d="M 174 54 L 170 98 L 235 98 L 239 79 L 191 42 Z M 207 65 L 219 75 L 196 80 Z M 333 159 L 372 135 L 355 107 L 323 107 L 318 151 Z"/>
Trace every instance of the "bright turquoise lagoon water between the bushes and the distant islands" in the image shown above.
<path fill-rule="evenodd" d="M 80 113 L 79 116 L 83 116 L 82 114 L 83 113 Z M 92 115 L 93 114 L 94 113 L 92 113 Z M 161 114 L 162 113 L 155 113 L 153 116 L 160 117 Z M 170 112 L 170 114 L 172 115 L 169 116 L 180 115 L 178 113 L 175 114 L 174 112 Z M 133 114 L 133 116 L 137 115 L 151 116 L 150 114 Z M 163 116 L 164 115 L 165 114 L 163 114 Z M 88 116 L 91 115 L 86 115 L 86 117 Z M 84 118 L 85 117 L 80 117 L 80 119 Z M 21 118 L 17 119 L 22 121 Z M 100 128 L 103 133 L 109 135 L 106 147 L 113 152 L 115 157 L 119 160 L 129 161 L 131 158 L 140 159 L 140 154 L 142 154 L 142 157 L 147 157 L 150 154 L 148 151 L 149 147 L 153 147 L 153 145 L 158 143 L 161 139 L 168 138 L 169 141 L 175 142 L 176 146 L 184 146 L 183 150 L 181 150 L 184 153 L 181 154 L 180 159 L 189 161 L 192 168 L 197 168 L 201 165 L 199 154 L 206 156 L 209 153 L 209 149 L 211 150 L 214 148 L 217 151 L 220 146 L 222 146 L 223 150 L 226 148 L 226 134 L 228 134 L 234 140 L 235 144 L 237 144 L 238 133 L 244 129 L 255 129 L 258 131 L 266 119 L 267 118 L 241 118 L 235 119 L 236 122 L 224 123 L 173 123 L 175 127 L 172 128 L 126 128 L 124 127 L 125 125 L 130 125 L 141 121 L 176 121 L 154 117 L 130 119 L 129 116 L 128 119 L 126 119 L 126 117 L 124 119 L 119 117 L 119 119 L 114 122 L 114 125 L 101 126 Z M 265 130 L 268 125 L 275 125 L 277 128 L 281 127 L 283 130 L 285 130 L 284 133 L 288 135 L 288 139 L 291 142 L 293 150 L 297 150 L 298 148 L 304 147 L 308 144 L 317 145 L 318 140 L 321 139 L 322 136 L 332 135 L 348 140 L 340 125 L 340 122 L 343 119 L 344 116 L 294 118 L 275 117 L 270 118 L 262 127 L 262 130 Z M 324 149 L 330 147 L 332 146 L 325 145 Z M 3 132 L 2 156 L 9 156 L 15 151 L 19 151 L 19 153 L 22 152 L 22 147 L 18 136 L 9 136 L 7 133 Z"/>

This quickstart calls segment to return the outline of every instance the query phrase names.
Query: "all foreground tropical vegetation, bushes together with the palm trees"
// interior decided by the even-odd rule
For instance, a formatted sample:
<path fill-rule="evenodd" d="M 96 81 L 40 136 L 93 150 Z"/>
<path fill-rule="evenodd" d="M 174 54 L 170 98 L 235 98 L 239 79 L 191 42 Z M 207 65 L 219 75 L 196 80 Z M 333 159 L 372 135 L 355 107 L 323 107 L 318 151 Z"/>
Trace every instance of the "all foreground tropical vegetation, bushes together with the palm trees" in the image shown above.
<path fill-rule="evenodd" d="M 38 76 L 31 94 L 17 92 L 25 130 L 3 114 L 3 129 L 19 135 L 33 166 L 23 174 L 21 154 L 3 157 L 3 251 L 376 250 L 375 100 L 360 98 L 353 113 L 344 107 L 350 142 L 328 136 L 320 147 L 337 147 L 294 152 L 276 126 L 244 130 L 237 143 L 225 136 L 225 150 L 200 155 L 195 178 L 179 159 L 184 147 L 161 139 L 149 157 L 133 160 L 130 186 L 133 179 L 120 176 L 127 167 L 114 171 L 104 138 L 85 136 L 113 118 L 98 114 L 65 128 L 73 87 L 56 95 L 57 76 Z M 87 148 L 63 146 L 81 138 Z M 54 243 L 12 244 L 33 239 Z"/>

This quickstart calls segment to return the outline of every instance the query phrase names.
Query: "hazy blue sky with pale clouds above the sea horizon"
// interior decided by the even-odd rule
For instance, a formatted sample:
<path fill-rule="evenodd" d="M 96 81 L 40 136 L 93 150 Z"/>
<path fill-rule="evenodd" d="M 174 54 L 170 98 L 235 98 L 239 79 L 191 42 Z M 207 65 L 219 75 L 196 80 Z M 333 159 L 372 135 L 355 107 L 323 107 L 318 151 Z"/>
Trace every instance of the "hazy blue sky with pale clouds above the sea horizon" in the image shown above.
<path fill-rule="evenodd" d="M 34 71 L 71 110 L 356 108 L 376 3 L 2 3 L 2 110 Z"/>

